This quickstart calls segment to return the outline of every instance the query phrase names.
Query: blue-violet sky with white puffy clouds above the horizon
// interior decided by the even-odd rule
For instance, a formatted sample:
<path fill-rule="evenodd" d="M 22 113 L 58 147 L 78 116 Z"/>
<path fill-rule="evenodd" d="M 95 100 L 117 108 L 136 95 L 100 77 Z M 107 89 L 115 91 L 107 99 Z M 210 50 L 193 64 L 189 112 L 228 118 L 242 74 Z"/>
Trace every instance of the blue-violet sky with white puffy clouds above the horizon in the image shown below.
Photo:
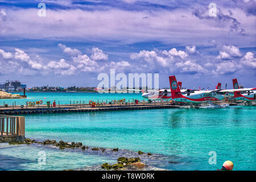
<path fill-rule="evenodd" d="M 256 86 L 255 16 L 256 0 L 0 0 L 0 82 L 97 86 L 115 68 L 160 87 Z"/>

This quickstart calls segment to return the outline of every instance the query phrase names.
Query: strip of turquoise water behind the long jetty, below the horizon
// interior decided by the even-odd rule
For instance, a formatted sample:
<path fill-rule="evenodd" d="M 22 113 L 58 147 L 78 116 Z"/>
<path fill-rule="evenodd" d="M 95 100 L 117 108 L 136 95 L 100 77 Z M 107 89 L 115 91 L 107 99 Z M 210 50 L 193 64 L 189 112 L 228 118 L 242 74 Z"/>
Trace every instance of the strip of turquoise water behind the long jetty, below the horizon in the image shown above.
<path fill-rule="evenodd" d="M 23 95 L 21 92 L 15 92 L 13 94 Z M 56 104 L 75 104 L 78 103 L 88 104 L 89 101 L 99 101 L 99 102 L 109 102 L 111 100 L 121 100 L 123 98 L 126 101 L 133 101 L 133 99 L 143 100 L 141 93 L 84 93 L 84 92 L 27 92 L 27 98 L 22 99 L 0 99 L 0 106 L 3 104 L 13 105 L 16 102 L 16 105 L 26 105 L 26 102 L 35 102 L 43 101 L 43 104 L 46 104 L 46 101 L 56 101 Z"/>

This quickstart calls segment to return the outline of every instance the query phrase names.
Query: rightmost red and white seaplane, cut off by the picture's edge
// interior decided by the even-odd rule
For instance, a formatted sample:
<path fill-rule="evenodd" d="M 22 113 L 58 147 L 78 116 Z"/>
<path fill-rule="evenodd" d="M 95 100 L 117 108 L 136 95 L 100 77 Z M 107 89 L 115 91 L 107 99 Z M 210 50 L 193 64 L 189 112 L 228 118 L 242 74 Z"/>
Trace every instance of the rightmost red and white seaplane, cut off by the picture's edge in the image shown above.
<path fill-rule="evenodd" d="M 256 88 L 242 88 L 238 85 L 237 78 L 234 78 L 232 81 L 233 89 L 225 89 L 220 92 L 234 96 L 234 99 L 237 101 L 256 101 Z"/>

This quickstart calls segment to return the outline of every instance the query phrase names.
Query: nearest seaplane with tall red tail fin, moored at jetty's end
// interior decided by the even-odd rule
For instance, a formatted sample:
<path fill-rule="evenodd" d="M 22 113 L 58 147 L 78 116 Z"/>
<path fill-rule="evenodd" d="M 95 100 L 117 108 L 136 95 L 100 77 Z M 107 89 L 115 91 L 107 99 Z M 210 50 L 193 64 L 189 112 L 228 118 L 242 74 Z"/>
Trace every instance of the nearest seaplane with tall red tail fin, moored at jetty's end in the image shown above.
<path fill-rule="evenodd" d="M 221 101 L 225 97 L 220 94 L 221 83 L 218 83 L 214 90 L 186 90 L 181 92 L 179 86 L 177 86 L 177 80 L 175 76 L 169 77 L 172 100 L 177 102 L 190 102 L 193 104 L 208 103 L 209 107 L 220 108 L 228 105 L 213 105 L 210 101 Z"/>

